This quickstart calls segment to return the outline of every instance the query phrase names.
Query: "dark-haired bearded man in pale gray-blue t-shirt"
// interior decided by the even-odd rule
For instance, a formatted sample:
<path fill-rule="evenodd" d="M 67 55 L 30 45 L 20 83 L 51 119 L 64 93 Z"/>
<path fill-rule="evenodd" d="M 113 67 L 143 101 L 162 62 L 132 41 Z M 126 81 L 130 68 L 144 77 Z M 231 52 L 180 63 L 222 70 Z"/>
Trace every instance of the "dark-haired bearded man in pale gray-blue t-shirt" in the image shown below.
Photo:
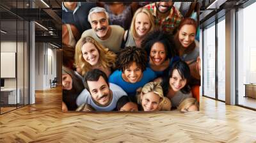
<path fill-rule="evenodd" d="M 84 87 L 86 89 L 77 97 L 77 106 L 86 103 L 97 111 L 111 111 L 120 97 L 127 96 L 121 87 L 109 84 L 107 75 L 98 69 L 86 73 Z"/>

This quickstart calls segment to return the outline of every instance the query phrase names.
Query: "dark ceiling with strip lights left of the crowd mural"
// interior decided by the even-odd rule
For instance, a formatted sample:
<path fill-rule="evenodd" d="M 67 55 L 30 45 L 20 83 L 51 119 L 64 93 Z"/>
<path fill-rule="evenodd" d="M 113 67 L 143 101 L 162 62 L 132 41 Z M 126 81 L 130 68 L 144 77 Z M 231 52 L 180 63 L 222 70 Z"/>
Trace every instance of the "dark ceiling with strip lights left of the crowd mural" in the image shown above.
<path fill-rule="evenodd" d="M 0 18 L 1 29 L 7 32 L 4 36 L 1 33 L 2 39 L 22 39 L 23 33 L 28 32 L 24 22 L 32 20 L 38 23 L 35 24 L 36 42 L 50 42 L 61 47 L 61 1 L 1 0 Z"/>

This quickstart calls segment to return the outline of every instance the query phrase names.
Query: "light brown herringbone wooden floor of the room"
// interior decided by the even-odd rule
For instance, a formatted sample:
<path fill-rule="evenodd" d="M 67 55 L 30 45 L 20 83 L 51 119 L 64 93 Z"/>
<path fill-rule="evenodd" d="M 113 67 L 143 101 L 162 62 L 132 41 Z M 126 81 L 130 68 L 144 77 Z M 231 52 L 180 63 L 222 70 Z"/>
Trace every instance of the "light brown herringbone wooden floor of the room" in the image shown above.
<path fill-rule="evenodd" d="M 61 89 L 0 116 L 0 142 L 256 142 L 256 112 L 200 99 L 200 111 L 61 112 Z"/>

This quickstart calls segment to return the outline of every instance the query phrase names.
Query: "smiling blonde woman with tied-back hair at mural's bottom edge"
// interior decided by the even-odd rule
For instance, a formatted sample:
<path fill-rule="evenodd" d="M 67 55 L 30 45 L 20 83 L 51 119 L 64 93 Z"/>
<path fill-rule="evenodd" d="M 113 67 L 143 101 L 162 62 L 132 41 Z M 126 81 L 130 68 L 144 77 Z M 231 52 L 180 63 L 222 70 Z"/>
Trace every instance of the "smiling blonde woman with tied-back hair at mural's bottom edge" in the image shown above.
<path fill-rule="evenodd" d="M 144 111 L 170 110 L 172 107 L 170 100 L 164 97 L 159 82 L 148 82 L 142 89 L 138 89 L 137 99 Z"/>

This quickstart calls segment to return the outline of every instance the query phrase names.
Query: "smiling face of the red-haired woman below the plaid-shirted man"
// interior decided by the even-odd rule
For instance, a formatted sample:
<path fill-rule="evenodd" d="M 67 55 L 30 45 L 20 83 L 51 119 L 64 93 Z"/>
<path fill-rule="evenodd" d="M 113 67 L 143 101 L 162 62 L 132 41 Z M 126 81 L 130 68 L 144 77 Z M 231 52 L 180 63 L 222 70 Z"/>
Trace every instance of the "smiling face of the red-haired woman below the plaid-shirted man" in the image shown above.
<path fill-rule="evenodd" d="M 195 41 L 196 28 L 192 25 L 184 25 L 179 30 L 180 44 L 187 48 L 191 43 Z"/>

